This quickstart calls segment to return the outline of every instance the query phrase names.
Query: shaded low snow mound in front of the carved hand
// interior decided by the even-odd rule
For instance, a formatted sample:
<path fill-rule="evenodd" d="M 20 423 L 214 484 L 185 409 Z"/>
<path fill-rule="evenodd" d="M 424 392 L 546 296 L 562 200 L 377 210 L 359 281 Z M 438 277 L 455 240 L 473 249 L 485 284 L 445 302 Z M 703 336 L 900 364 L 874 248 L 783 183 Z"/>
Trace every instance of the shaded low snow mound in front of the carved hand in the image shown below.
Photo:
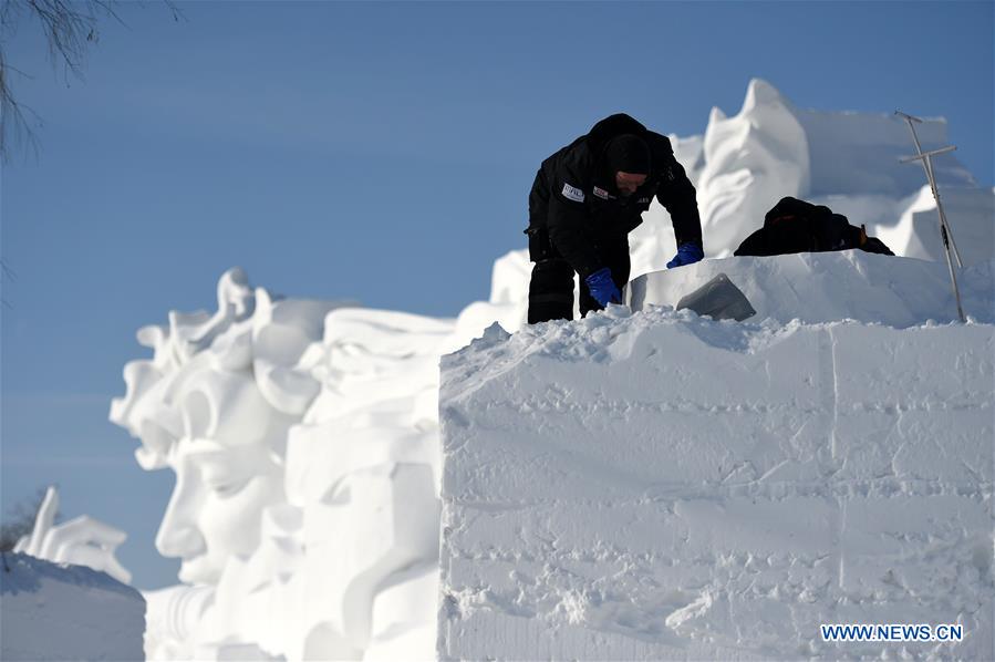
<path fill-rule="evenodd" d="M 144 660 L 145 599 L 83 566 L 4 554 L 3 660 Z"/>

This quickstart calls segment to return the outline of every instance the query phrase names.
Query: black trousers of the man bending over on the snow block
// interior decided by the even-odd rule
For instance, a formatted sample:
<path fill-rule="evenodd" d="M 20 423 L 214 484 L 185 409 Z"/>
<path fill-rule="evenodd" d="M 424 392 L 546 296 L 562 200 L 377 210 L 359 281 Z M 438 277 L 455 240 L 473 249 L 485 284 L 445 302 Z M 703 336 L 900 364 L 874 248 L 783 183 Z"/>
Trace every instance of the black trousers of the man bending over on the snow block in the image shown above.
<path fill-rule="evenodd" d="M 619 291 L 629 282 L 629 236 L 615 235 L 598 241 L 598 255 L 611 269 Z M 549 320 L 573 319 L 573 268 L 549 241 L 545 229 L 529 231 L 529 257 L 536 262 L 529 281 L 529 324 Z M 602 306 L 591 297 L 583 280 L 580 282 L 580 317 Z"/>

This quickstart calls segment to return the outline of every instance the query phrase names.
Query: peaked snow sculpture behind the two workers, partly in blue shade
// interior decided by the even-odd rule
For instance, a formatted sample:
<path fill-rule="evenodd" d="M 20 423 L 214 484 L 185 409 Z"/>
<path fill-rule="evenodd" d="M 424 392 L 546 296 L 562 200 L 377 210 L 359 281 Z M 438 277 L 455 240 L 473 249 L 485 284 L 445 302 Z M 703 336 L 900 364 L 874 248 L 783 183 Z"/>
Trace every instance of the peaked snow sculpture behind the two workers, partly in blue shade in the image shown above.
<path fill-rule="evenodd" d="M 947 144 L 946 123 L 916 125 L 923 148 Z M 935 203 L 904 123 L 889 113 L 821 112 L 795 106 L 770 83 L 749 82 L 734 116 L 713 108 L 703 136 L 671 136 L 697 188 L 707 257 L 727 257 L 784 196 L 827 205 L 867 225 L 895 255 L 943 260 Z M 935 161 L 936 179 L 964 265 L 995 257 L 995 192 L 978 188 L 953 155 Z M 653 204 L 632 235 L 632 276 L 662 271 L 674 252 L 666 210 Z"/>

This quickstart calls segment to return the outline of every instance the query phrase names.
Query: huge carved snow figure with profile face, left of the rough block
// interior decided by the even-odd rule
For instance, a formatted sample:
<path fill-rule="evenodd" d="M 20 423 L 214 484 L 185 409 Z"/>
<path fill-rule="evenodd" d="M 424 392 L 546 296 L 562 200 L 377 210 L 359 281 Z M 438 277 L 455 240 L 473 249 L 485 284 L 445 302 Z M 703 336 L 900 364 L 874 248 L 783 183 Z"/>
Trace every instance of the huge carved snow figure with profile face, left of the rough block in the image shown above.
<path fill-rule="evenodd" d="M 364 659 L 434 650 L 438 356 L 455 324 L 281 299 L 240 269 L 218 310 L 139 342 L 111 420 L 176 486 L 146 596 L 151 659 Z M 380 651 L 380 652 L 377 652 Z"/>

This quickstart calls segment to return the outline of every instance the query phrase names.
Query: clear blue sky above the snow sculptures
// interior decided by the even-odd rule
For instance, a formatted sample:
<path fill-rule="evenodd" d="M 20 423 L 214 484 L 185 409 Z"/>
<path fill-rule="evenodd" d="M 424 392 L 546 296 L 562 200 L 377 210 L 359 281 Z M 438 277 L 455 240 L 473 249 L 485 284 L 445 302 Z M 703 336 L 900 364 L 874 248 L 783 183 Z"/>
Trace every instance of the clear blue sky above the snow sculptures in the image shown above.
<path fill-rule="evenodd" d="M 993 182 L 992 2 L 182 3 L 105 21 L 85 81 L 37 25 L 4 44 L 44 120 L 2 173 L 2 505 L 131 534 L 142 588 L 169 472 L 107 423 L 135 331 L 210 308 L 228 267 L 296 297 L 454 316 L 524 245 L 539 162 L 597 120 L 702 133 L 760 76 L 795 104 L 950 121 Z M 927 41 L 930 38 L 934 41 Z"/>

